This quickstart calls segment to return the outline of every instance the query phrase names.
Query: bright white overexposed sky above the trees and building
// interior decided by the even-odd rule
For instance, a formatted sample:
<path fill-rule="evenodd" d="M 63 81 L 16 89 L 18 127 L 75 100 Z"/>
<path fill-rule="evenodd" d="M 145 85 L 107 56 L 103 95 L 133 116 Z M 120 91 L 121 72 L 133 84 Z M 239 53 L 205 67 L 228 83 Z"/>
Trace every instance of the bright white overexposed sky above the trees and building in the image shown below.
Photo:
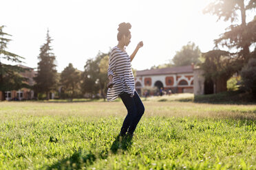
<path fill-rule="evenodd" d="M 229 22 L 203 14 L 211 0 L 3 0 L 0 25 L 11 34 L 8 51 L 23 56 L 23 65 L 37 67 L 40 47 L 50 31 L 57 71 L 69 63 L 81 71 L 98 51 L 107 53 L 118 44 L 118 25 L 131 23 L 131 54 L 140 40 L 140 48 L 131 62 L 137 70 L 169 62 L 188 42 L 202 52 L 214 47 L 213 40 L 225 32 Z M 6 64 L 14 64 L 1 60 Z"/>

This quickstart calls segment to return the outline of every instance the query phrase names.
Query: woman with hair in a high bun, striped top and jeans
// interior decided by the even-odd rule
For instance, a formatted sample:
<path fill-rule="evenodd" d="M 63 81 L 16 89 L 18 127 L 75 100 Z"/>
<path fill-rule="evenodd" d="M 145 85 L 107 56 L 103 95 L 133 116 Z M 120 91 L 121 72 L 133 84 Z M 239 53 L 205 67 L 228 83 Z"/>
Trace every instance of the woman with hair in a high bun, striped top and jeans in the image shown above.
<path fill-rule="evenodd" d="M 134 74 L 131 70 L 131 61 L 136 56 L 138 49 L 143 46 L 143 42 L 139 42 L 134 52 L 129 56 L 125 51 L 125 47 L 131 42 L 129 29 L 131 29 L 130 23 L 119 24 L 118 45 L 111 50 L 109 57 L 107 100 L 113 101 L 118 96 L 122 99 L 128 113 L 122 123 L 119 136 L 127 135 L 132 138 L 145 108 L 135 90 Z"/>

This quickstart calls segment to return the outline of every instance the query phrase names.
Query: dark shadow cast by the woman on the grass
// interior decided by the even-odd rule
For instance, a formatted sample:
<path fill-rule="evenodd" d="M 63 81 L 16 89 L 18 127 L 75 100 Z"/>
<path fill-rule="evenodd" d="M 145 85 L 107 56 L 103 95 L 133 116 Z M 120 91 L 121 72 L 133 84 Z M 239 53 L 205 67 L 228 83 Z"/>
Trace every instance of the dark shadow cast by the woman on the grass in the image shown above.
<path fill-rule="evenodd" d="M 112 143 L 110 150 L 100 151 L 98 154 L 93 154 L 92 151 L 84 152 L 81 148 L 74 151 L 74 154 L 68 158 L 64 158 L 63 160 L 58 160 L 58 162 L 54 163 L 47 167 L 47 170 L 52 169 L 82 169 L 83 167 L 87 167 L 89 165 L 94 164 L 94 162 L 99 159 L 107 159 L 109 152 L 112 154 L 119 153 L 119 150 L 125 151 L 127 150 L 132 142 L 131 137 L 121 138 L 119 135 L 116 136 L 115 141 Z"/>

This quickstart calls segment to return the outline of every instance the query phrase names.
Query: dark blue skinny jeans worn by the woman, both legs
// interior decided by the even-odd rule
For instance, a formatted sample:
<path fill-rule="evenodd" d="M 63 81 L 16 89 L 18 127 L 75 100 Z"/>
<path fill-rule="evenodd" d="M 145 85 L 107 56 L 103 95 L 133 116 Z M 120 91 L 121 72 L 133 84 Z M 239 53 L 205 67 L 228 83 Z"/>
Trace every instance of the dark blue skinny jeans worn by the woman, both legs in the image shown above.
<path fill-rule="evenodd" d="M 126 92 L 121 93 L 119 96 L 128 112 L 125 121 L 122 123 L 120 134 L 124 135 L 127 131 L 134 134 L 136 126 L 145 112 L 145 108 L 136 91 L 134 92 L 134 97 L 131 97 Z"/>

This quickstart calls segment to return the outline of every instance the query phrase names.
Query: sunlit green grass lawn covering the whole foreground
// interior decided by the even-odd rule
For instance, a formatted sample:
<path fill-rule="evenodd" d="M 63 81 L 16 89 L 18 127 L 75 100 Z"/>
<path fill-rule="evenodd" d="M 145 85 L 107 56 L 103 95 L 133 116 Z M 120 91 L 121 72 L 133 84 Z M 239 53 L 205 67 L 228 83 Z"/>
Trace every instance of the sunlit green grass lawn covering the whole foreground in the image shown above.
<path fill-rule="evenodd" d="M 144 104 L 118 141 L 120 101 L 0 102 L 0 169 L 256 169 L 255 105 Z"/>

